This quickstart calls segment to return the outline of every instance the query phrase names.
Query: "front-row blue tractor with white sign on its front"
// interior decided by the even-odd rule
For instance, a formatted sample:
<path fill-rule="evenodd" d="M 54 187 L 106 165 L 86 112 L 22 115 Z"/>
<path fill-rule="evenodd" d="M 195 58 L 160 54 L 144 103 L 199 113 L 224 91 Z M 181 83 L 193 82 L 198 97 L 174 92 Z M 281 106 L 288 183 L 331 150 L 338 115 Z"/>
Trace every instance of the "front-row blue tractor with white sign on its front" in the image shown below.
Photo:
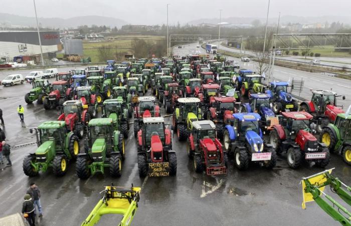
<path fill-rule="evenodd" d="M 234 156 L 234 165 L 239 170 L 255 162 L 271 169 L 276 165 L 277 154 L 273 147 L 264 143 L 257 113 L 236 113 L 234 120 L 227 125 L 223 134 L 223 149 Z"/>

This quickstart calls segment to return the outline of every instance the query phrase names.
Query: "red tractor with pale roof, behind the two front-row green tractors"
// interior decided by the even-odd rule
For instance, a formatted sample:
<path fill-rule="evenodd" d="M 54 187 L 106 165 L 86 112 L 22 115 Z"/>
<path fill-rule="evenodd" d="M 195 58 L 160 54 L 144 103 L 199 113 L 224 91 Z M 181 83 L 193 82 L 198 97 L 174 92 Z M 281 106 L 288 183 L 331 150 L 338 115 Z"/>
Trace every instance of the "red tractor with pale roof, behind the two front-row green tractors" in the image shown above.
<path fill-rule="evenodd" d="M 63 113 L 57 120 L 65 121 L 67 131 L 72 131 L 82 139 L 90 121 L 90 115 L 87 109 L 83 109 L 81 101 L 67 100 L 63 103 Z"/>

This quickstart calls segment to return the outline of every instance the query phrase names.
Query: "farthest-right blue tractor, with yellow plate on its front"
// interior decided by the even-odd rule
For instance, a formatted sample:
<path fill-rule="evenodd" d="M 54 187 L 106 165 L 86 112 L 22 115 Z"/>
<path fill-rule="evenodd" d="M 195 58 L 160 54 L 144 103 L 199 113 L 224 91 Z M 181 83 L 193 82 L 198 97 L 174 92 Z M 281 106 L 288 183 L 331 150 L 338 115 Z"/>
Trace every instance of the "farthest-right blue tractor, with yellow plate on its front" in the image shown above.
<path fill-rule="evenodd" d="M 271 96 L 273 111 L 279 114 L 281 111 L 297 111 L 298 103 L 288 92 L 288 82 L 273 81 L 269 83 L 269 89 L 266 90 Z"/>

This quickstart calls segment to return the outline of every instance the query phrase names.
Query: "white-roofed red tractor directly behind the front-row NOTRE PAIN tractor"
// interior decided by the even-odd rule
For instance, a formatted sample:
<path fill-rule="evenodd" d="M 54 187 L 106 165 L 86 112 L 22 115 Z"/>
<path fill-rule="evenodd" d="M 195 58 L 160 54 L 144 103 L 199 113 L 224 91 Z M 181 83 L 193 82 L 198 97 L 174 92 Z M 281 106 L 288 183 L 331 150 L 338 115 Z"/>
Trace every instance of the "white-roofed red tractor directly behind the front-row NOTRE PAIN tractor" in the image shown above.
<path fill-rule="evenodd" d="M 159 106 L 155 104 L 154 96 L 138 96 L 138 102 L 134 107 L 134 137 L 143 124 L 143 118 L 159 117 Z"/>

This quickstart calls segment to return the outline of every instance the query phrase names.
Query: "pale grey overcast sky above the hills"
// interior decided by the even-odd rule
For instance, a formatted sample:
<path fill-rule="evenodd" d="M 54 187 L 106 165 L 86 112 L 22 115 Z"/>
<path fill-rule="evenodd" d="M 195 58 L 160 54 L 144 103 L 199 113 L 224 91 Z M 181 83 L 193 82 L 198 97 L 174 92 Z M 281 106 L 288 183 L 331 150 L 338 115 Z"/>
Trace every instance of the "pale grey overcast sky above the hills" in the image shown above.
<path fill-rule="evenodd" d="M 35 16 L 32 0 L 4 1 L 0 13 Z M 265 18 L 268 0 L 36 0 L 38 17 L 70 18 L 74 16 L 107 16 L 131 24 L 187 23 L 201 18 L 257 17 Z M 351 16 L 350 0 L 271 0 L 270 18 L 292 16 Z"/>

